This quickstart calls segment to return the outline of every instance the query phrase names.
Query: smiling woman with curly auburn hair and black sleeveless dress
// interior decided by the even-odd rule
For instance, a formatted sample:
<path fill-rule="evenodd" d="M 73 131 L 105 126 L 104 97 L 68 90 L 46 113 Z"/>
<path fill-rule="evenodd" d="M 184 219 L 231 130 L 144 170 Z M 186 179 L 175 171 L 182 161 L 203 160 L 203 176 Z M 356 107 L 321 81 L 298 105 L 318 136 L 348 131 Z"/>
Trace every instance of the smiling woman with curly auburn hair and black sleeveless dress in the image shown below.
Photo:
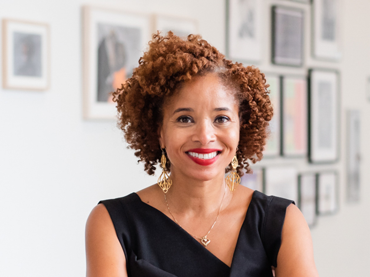
<path fill-rule="evenodd" d="M 293 201 L 238 186 L 247 160 L 262 158 L 272 117 L 265 82 L 199 36 L 154 35 L 113 95 L 135 155 L 148 174 L 161 161 L 162 174 L 92 210 L 88 277 L 317 276 Z"/>

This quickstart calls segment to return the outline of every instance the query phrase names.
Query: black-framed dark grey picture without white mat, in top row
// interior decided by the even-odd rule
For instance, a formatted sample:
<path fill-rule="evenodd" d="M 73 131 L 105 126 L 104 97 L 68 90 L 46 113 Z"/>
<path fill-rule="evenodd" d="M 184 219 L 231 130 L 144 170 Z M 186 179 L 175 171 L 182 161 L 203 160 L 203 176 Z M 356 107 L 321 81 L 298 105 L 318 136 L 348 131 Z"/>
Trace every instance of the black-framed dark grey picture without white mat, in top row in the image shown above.
<path fill-rule="evenodd" d="M 272 63 L 277 65 L 303 65 L 302 9 L 272 7 Z"/>

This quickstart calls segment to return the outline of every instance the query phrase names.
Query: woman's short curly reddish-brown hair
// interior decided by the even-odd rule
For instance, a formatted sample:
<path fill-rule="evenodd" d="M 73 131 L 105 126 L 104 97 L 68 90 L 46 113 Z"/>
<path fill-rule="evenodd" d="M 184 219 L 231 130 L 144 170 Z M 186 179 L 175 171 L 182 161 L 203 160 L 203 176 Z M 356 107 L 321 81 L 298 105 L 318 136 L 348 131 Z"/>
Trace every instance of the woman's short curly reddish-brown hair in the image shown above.
<path fill-rule="evenodd" d="M 249 173 L 248 160 L 256 163 L 262 158 L 268 121 L 273 115 L 265 75 L 258 68 L 225 59 L 199 35 L 183 39 L 171 31 L 165 36 L 158 32 L 131 78 L 113 92 L 118 126 L 124 131 L 129 147 L 136 150 L 139 161 L 145 163 L 148 174 L 154 174 L 155 165 L 161 160 L 158 129 L 163 120 L 164 99 L 192 77 L 207 73 L 217 74 L 239 102 L 238 173 Z M 169 162 L 166 168 L 170 170 Z M 226 168 L 226 172 L 229 170 L 230 167 Z"/>

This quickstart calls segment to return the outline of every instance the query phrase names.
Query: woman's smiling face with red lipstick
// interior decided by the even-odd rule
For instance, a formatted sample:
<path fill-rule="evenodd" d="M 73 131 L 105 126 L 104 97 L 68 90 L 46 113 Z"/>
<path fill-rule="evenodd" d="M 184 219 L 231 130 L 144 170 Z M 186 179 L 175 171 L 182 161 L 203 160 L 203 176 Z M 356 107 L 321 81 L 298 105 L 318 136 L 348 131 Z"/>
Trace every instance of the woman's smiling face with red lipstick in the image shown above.
<path fill-rule="evenodd" d="M 239 107 L 215 74 L 193 78 L 165 101 L 159 143 L 171 175 L 207 181 L 224 176 L 239 143 Z"/>

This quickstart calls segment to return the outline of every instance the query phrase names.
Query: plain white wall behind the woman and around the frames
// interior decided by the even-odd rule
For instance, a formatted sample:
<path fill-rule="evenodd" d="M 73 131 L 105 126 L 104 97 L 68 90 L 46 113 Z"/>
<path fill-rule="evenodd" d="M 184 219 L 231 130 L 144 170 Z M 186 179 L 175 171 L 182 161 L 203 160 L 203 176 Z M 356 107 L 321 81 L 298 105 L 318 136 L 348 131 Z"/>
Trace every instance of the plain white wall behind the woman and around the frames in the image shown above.
<path fill-rule="evenodd" d="M 339 69 L 342 76 L 342 150 L 334 168 L 340 172 L 340 210 L 320 217 L 312 229 L 321 277 L 368 276 L 370 261 L 370 111 L 365 101 L 370 75 L 370 3 L 343 0 L 343 59 L 310 58 L 309 5 L 285 0 L 265 3 L 265 58 L 262 70 L 306 73 L 305 68 L 269 65 L 270 5 L 306 10 L 307 66 Z M 104 4 L 103 4 L 104 3 Z M 84 225 L 100 199 L 118 197 L 155 183 L 143 172 L 122 134 L 111 121 L 82 119 L 81 6 L 94 4 L 141 13 L 173 14 L 199 20 L 203 38 L 225 50 L 223 0 L 1 0 L 0 19 L 41 21 L 51 30 L 51 87 L 45 92 L 0 89 L 0 276 L 83 276 Z M 345 117 L 361 110 L 361 201 L 345 201 Z M 269 163 L 269 162 L 266 162 Z"/>

